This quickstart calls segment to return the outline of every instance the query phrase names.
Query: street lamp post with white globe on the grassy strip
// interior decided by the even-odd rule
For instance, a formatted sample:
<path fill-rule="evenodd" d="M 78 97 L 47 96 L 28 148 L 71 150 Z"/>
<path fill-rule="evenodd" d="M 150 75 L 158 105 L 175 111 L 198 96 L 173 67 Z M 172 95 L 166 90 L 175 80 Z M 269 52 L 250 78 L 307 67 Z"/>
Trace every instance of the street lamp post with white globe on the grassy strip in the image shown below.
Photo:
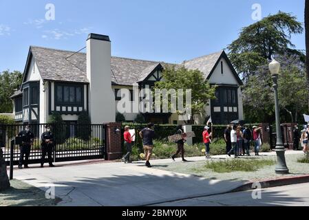
<path fill-rule="evenodd" d="M 277 130 L 277 143 L 275 151 L 277 153 L 277 166 L 276 173 L 277 174 L 288 174 L 288 167 L 286 166 L 286 157 L 284 156 L 286 152 L 286 148 L 284 148 L 284 143 L 282 142 L 281 137 L 281 126 L 280 126 L 280 115 L 279 115 L 279 101 L 278 101 L 278 75 L 280 71 L 280 63 L 273 61 L 269 64 L 269 70 L 272 74 L 273 79 L 273 88 L 275 91 L 275 115 L 276 115 L 276 130 Z"/>

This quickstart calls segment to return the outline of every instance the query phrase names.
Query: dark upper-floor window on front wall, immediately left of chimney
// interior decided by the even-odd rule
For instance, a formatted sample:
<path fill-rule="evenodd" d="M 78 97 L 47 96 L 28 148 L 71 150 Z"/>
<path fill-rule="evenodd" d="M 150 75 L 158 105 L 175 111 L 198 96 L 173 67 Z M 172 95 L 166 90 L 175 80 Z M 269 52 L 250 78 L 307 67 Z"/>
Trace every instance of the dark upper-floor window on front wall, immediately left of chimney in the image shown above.
<path fill-rule="evenodd" d="M 55 100 L 58 104 L 83 104 L 83 86 L 56 85 Z"/>

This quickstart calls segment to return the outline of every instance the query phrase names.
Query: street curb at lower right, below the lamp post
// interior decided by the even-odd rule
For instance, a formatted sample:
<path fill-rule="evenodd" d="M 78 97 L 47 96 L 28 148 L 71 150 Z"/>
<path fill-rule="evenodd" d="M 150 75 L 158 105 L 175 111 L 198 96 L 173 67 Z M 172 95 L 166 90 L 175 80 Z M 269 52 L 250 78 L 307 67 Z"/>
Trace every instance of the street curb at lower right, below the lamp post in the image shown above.
<path fill-rule="evenodd" d="M 278 186 L 287 186 L 292 184 L 305 184 L 309 182 L 309 175 L 301 175 L 297 177 L 285 177 L 281 179 L 267 179 L 262 181 L 253 181 L 243 186 L 239 186 L 230 192 L 241 192 L 241 191 L 248 191 L 254 190 L 257 188 L 256 184 L 260 184 L 262 188 L 273 188 Z M 253 187 L 255 186 L 255 187 Z"/>

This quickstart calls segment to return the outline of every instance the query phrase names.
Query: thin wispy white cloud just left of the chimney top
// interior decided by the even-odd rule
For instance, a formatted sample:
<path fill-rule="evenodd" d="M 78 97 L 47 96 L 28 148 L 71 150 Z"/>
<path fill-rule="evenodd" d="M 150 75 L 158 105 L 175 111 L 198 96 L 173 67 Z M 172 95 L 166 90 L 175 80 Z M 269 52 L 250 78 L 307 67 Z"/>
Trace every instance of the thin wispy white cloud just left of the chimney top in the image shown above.
<path fill-rule="evenodd" d="M 88 34 L 92 28 L 80 28 L 78 30 L 47 30 L 45 31 L 44 35 L 42 35 L 43 39 L 54 39 L 54 40 L 61 40 L 61 39 L 68 39 L 69 37 L 81 35 L 81 34 Z"/>

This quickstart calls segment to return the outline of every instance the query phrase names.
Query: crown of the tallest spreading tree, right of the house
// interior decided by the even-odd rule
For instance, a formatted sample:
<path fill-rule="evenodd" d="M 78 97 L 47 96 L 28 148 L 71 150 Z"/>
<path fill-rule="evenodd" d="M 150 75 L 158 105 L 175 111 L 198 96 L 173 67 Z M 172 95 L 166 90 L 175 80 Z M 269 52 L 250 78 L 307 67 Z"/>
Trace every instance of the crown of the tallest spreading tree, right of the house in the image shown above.
<path fill-rule="evenodd" d="M 292 34 L 301 34 L 302 25 L 297 17 L 285 12 L 269 15 L 248 27 L 242 28 L 238 39 L 228 45 L 229 56 L 244 82 L 257 73 L 259 65 L 265 65 L 275 54 L 304 56 L 295 50 L 290 41 Z"/>

